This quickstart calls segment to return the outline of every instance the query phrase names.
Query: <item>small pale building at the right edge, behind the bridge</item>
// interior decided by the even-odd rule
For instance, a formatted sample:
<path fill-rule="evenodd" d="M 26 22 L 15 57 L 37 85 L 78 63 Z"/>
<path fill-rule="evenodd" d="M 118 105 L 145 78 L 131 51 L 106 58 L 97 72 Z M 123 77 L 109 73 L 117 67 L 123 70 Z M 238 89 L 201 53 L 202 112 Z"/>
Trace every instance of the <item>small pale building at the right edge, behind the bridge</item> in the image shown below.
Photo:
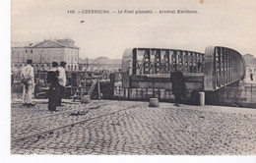
<path fill-rule="evenodd" d="M 246 65 L 246 77 L 250 77 L 251 72 L 256 75 L 256 58 L 251 54 L 245 54 L 243 58 Z"/>

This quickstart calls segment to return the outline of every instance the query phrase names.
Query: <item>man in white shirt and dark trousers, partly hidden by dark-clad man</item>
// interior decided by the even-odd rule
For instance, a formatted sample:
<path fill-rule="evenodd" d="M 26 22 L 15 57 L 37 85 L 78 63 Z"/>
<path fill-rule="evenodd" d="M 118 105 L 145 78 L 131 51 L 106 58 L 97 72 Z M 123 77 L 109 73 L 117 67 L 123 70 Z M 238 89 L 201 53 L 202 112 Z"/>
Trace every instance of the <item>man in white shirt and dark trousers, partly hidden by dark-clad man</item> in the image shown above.
<path fill-rule="evenodd" d="M 67 83 L 67 79 L 66 79 L 66 72 L 65 72 L 65 66 L 66 66 L 66 62 L 61 61 L 60 62 L 60 66 L 58 67 L 58 71 L 59 71 L 59 84 L 60 84 L 60 89 L 59 89 L 59 96 L 58 96 L 58 105 L 57 106 L 61 106 L 61 100 L 64 97 L 64 93 L 65 93 L 65 86 Z"/>

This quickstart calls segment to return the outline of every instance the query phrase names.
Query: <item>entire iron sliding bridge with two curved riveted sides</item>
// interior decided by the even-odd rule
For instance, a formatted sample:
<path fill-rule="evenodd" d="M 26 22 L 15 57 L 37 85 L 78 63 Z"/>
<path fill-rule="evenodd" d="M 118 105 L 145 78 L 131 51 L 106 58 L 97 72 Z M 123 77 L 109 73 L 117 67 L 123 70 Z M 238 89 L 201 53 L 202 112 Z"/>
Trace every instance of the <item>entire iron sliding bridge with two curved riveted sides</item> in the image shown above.
<path fill-rule="evenodd" d="M 179 49 L 132 48 L 122 58 L 125 96 L 152 91 L 160 97 L 171 91 L 170 71 L 182 70 L 187 91 L 216 91 L 245 77 L 245 62 L 234 49 L 211 46 L 204 53 Z M 143 96 L 143 94 L 141 94 Z"/>

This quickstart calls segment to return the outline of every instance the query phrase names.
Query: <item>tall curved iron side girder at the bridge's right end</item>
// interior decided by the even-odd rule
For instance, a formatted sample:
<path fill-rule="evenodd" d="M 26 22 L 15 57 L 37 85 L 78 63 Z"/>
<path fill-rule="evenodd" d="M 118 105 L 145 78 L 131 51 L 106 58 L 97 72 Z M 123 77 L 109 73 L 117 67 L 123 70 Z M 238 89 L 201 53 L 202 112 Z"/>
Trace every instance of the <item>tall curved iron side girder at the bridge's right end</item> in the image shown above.
<path fill-rule="evenodd" d="M 213 46 L 207 47 L 205 54 L 205 90 L 216 90 L 244 78 L 244 59 L 237 51 L 227 47 Z"/>

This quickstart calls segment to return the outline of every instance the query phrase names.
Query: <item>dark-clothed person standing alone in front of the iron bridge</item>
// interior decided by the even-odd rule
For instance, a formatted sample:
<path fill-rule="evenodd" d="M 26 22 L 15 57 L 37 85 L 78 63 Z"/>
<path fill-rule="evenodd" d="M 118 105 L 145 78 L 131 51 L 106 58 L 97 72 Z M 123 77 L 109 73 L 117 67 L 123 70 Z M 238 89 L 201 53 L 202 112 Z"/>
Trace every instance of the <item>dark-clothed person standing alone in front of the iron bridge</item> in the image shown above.
<path fill-rule="evenodd" d="M 186 85 L 185 78 L 182 72 L 178 69 L 177 65 L 174 65 L 173 72 L 170 73 L 170 81 L 172 85 L 172 93 L 174 94 L 175 104 L 174 106 L 180 106 L 181 98 L 185 96 Z"/>

